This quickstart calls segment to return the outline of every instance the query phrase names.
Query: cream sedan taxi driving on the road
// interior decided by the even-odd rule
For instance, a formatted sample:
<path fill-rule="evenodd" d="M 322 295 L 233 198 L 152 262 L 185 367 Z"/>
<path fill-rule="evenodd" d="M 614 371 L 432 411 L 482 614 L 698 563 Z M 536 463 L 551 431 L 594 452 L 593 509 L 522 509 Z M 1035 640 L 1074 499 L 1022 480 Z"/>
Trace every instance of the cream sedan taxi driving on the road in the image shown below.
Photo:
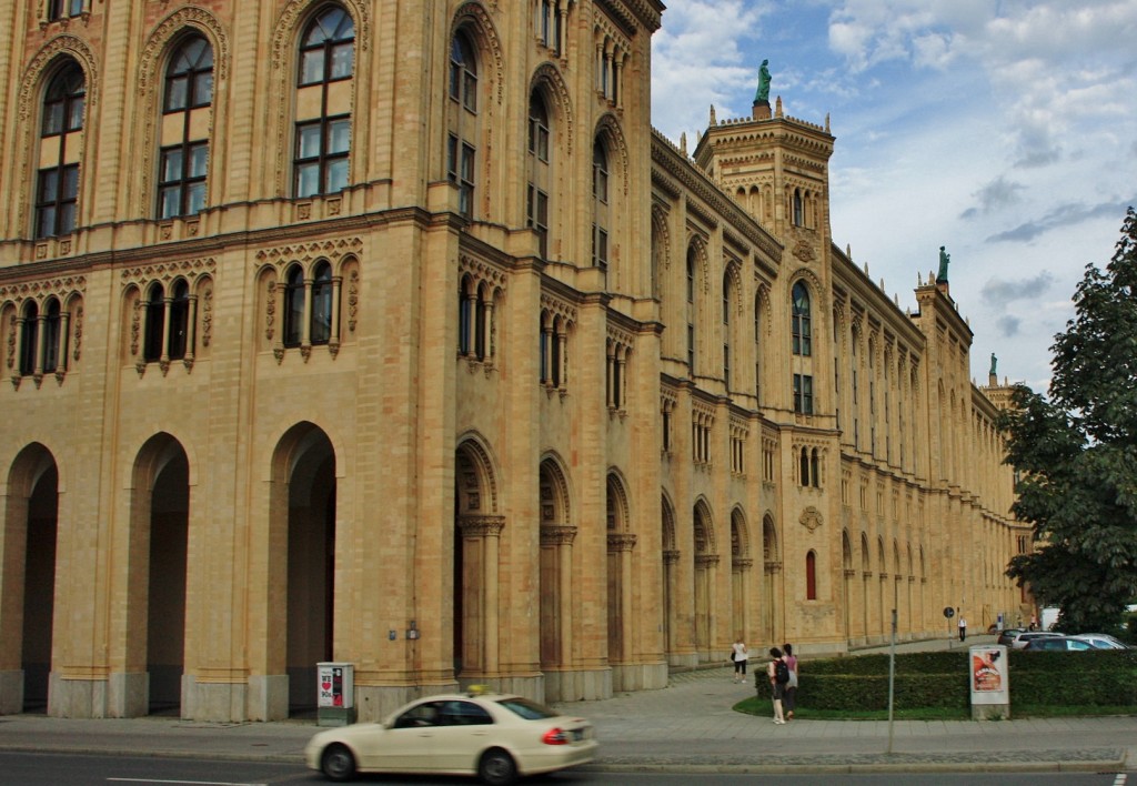
<path fill-rule="evenodd" d="M 596 731 L 522 696 L 472 690 L 410 702 L 382 723 L 317 733 L 308 767 L 331 780 L 356 772 L 476 775 L 501 786 L 596 758 Z"/>

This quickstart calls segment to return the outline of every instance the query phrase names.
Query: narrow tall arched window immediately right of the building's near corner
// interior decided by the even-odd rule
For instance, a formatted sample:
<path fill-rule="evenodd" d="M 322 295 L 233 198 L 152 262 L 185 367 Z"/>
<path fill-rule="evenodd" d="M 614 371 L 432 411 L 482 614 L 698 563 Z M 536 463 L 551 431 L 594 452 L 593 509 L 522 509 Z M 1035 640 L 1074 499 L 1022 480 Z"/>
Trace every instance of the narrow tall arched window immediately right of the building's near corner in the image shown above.
<path fill-rule="evenodd" d="M 458 212 L 472 218 L 478 157 L 478 60 L 470 38 L 462 31 L 450 42 L 449 96 L 447 176 L 458 187 Z"/>

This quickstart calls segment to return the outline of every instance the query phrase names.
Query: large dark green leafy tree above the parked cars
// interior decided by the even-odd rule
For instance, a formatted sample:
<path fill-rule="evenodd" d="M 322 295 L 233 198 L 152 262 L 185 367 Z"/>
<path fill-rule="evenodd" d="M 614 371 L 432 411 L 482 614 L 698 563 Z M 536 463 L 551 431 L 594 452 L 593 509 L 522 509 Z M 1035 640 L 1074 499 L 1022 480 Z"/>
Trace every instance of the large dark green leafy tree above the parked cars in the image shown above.
<path fill-rule="evenodd" d="M 1012 510 L 1040 547 L 1006 574 L 1061 607 L 1068 632 L 1117 627 L 1137 595 L 1137 214 L 1105 271 L 1086 266 L 1054 337 L 1049 397 L 1019 386 L 1001 417 L 1020 473 Z"/>

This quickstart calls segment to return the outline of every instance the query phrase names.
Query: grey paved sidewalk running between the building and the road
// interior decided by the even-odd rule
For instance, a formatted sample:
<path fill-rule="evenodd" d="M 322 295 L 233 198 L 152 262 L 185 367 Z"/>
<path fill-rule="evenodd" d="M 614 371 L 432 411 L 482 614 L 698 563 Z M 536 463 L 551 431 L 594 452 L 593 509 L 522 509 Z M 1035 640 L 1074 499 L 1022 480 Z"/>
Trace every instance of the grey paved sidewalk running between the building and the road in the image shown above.
<path fill-rule="evenodd" d="M 926 642 L 898 651 L 946 646 L 946 640 Z M 807 669 L 806 660 L 803 676 Z M 594 770 L 1119 771 L 1137 761 L 1137 717 L 896 721 L 888 753 L 886 721 L 795 720 L 777 726 L 770 718 L 735 712 L 733 704 L 753 690 L 753 682 L 737 684 L 722 668 L 674 673 L 662 690 L 557 706 L 596 725 L 601 747 L 589 767 Z M 210 723 L 24 714 L 0 717 L 0 751 L 208 756 L 300 766 L 304 746 L 315 731 L 313 721 Z"/>

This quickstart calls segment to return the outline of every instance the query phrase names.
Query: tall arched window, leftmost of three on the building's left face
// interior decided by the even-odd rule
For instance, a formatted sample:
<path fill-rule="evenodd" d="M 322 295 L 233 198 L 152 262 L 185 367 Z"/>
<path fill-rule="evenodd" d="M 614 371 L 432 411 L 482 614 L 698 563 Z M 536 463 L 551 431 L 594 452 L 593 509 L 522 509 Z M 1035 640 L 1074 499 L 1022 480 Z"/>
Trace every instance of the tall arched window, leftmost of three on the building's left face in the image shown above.
<path fill-rule="evenodd" d="M 83 142 L 86 85 L 83 71 L 69 61 L 43 97 L 40 169 L 36 177 L 35 237 L 70 234 L 78 202 L 78 157 Z"/>

